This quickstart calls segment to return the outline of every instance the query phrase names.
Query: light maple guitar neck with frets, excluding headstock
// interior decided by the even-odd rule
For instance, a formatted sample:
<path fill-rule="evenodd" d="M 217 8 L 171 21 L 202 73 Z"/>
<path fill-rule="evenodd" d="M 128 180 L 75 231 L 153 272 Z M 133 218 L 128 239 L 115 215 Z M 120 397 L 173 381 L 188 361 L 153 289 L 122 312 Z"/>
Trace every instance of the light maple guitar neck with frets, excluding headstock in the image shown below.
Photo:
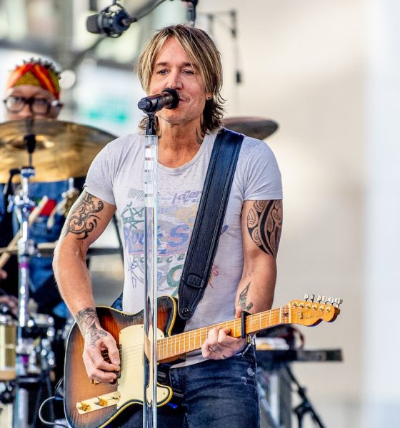
<path fill-rule="evenodd" d="M 291 310 L 289 305 L 276 309 L 266 310 L 246 317 L 246 334 L 259 332 L 274 325 L 291 322 Z M 171 337 L 164 337 L 157 341 L 157 360 L 163 362 L 172 357 L 199 350 L 210 330 L 215 327 L 229 328 L 232 337 L 241 337 L 241 319 L 220 322 L 219 324 L 201 327 L 196 330 L 184 332 Z"/>

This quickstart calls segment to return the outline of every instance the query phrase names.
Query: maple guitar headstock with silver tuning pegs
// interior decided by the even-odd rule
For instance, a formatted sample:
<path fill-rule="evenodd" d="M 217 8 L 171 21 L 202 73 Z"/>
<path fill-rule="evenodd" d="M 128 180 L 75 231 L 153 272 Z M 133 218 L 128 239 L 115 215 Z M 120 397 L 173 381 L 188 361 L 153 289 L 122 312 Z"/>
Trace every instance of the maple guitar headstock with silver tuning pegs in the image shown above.
<path fill-rule="evenodd" d="M 291 323 L 317 325 L 321 321 L 332 322 L 340 313 L 343 302 L 339 297 L 304 295 L 304 300 L 290 302 Z"/>

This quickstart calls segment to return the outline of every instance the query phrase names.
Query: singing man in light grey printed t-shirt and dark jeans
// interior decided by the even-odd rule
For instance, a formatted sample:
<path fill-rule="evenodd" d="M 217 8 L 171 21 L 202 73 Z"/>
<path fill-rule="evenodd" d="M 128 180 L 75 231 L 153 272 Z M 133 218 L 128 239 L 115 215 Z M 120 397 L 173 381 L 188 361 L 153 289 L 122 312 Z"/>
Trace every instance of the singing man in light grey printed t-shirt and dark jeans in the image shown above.
<path fill-rule="evenodd" d="M 222 118 L 220 54 L 199 29 L 161 29 L 137 66 L 146 93 L 172 88 L 174 109 L 156 113 L 159 135 L 159 295 L 177 296 L 179 275 L 196 218 L 211 151 Z M 115 210 L 124 229 L 124 312 L 139 312 L 144 300 L 144 138 L 118 138 L 97 156 L 84 193 L 66 220 L 54 258 L 56 280 L 85 340 L 84 365 L 92 381 L 113 382 L 124 367 L 114 338 L 96 315 L 86 251 Z M 281 175 L 268 146 L 244 138 L 224 226 L 204 296 L 186 330 L 231 320 L 242 310 L 268 310 L 274 297 L 276 253 L 281 235 Z M 159 427 L 243 428 L 259 426 L 254 346 L 227 328 L 209 331 L 201 352 L 172 366 L 171 387 L 183 393 L 181 406 L 159 408 Z M 110 362 L 101 356 L 108 350 Z M 121 365 L 121 366 L 120 366 Z M 131 379 L 132 382 L 135 379 Z M 67 393 L 67 392 L 66 392 Z M 119 427 L 141 427 L 131 406 Z"/>

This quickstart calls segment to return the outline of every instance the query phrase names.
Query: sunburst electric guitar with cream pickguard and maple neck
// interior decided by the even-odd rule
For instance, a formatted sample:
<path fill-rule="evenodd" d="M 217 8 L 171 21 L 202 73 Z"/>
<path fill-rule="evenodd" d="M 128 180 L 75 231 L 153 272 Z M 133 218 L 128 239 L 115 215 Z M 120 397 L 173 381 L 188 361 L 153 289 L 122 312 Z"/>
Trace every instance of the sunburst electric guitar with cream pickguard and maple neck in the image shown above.
<path fill-rule="evenodd" d="M 317 325 L 322 320 L 332 322 L 339 315 L 341 299 L 326 299 L 305 295 L 306 300 L 292 300 L 289 305 L 247 315 L 246 334 L 259 332 L 280 324 Z M 177 360 L 179 356 L 201 349 L 201 344 L 214 327 L 231 329 L 230 335 L 241 337 L 241 319 L 221 322 L 196 330 L 172 335 L 177 315 L 176 300 L 159 297 L 157 328 L 157 360 L 159 363 Z M 111 333 L 119 345 L 121 377 L 116 384 L 91 384 L 86 374 L 82 352 L 84 339 L 76 323 L 71 328 L 66 345 L 64 375 L 64 409 L 66 420 L 74 428 L 105 427 L 131 404 L 143 404 L 143 311 L 130 315 L 110 307 L 97 307 L 104 330 Z M 105 356 L 106 358 L 106 356 Z M 151 390 L 151 387 L 150 387 Z M 169 402 L 172 389 L 157 386 L 157 406 Z"/>

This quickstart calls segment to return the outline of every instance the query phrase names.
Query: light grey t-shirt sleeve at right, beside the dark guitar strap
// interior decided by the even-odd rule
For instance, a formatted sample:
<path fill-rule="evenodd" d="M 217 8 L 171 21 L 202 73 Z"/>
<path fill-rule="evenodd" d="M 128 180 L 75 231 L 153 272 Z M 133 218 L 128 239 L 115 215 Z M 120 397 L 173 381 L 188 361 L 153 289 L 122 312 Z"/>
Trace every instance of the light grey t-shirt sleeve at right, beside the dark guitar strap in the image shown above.
<path fill-rule="evenodd" d="M 254 138 L 244 143 L 244 200 L 282 199 L 281 172 L 271 148 Z"/>

